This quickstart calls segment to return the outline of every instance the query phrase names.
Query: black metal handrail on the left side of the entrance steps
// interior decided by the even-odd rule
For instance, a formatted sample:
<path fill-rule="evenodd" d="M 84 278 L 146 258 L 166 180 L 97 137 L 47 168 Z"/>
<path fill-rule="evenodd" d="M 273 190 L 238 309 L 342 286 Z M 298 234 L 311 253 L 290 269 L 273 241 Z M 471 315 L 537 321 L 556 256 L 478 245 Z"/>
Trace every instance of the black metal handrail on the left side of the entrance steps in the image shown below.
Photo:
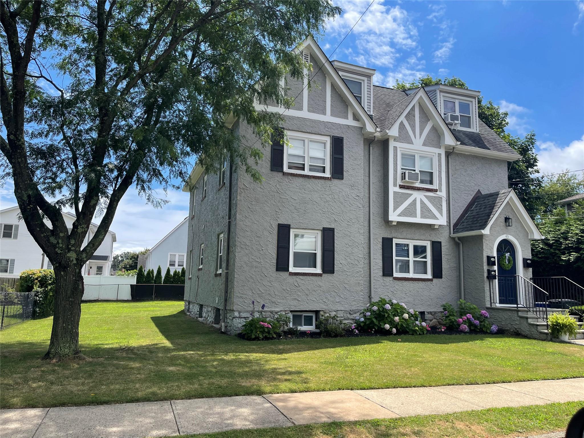
<path fill-rule="evenodd" d="M 515 306 L 543 320 L 547 327 L 550 294 L 519 274 L 489 276 L 492 305 Z"/>

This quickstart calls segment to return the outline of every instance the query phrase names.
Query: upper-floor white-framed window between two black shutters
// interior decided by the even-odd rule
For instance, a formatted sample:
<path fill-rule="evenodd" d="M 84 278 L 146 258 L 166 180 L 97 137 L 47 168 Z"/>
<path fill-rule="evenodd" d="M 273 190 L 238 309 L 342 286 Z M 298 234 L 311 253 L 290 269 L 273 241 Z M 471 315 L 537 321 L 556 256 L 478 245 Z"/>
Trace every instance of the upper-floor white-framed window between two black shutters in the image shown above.
<path fill-rule="evenodd" d="M 291 147 L 284 148 L 284 169 L 291 173 L 331 176 L 331 138 L 287 132 Z"/>

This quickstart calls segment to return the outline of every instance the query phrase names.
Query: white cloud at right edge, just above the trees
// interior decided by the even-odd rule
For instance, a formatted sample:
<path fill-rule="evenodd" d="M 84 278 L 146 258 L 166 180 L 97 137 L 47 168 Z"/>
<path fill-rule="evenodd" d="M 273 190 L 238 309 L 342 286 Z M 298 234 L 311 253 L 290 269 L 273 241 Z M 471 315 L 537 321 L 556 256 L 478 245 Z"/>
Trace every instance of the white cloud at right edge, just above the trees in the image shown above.
<path fill-rule="evenodd" d="M 584 135 L 566 147 L 561 147 L 554 141 L 537 142 L 537 147 L 538 167 L 541 173 L 584 169 Z"/>

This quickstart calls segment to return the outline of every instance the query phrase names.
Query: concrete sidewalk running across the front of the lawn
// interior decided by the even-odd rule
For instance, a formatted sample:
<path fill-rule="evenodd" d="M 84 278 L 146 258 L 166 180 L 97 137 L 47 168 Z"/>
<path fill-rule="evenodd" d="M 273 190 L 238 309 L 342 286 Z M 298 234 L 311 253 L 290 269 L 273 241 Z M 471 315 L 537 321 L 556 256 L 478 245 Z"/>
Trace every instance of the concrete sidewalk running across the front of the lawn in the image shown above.
<path fill-rule="evenodd" d="M 584 400 L 584 378 L 4 409 L 2 438 L 141 438 Z"/>

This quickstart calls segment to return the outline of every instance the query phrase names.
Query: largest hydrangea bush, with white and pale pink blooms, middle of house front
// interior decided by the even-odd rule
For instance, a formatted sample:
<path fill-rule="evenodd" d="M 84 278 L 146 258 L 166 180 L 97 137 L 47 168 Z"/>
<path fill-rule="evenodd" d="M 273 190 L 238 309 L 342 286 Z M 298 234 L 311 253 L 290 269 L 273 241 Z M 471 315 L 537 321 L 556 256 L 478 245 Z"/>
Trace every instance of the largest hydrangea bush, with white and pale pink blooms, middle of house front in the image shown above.
<path fill-rule="evenodd" d="M 401 333 L 423 335 L 430 327 L 420 321 L 418 312 L 408 308 L 404 303 L 381 298 L 361 311 L 353 329 L 393 335 Z"/>

